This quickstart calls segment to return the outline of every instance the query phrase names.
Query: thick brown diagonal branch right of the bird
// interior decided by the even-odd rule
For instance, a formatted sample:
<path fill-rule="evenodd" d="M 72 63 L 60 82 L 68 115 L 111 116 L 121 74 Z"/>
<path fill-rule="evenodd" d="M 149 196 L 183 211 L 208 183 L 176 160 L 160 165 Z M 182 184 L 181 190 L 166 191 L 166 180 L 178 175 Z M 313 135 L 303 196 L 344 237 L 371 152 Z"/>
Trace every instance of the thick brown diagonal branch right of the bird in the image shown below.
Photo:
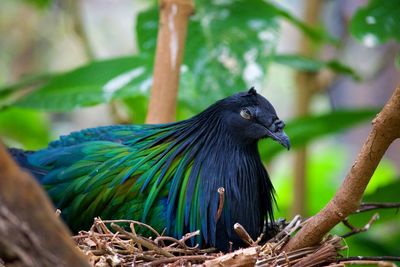
<path fill-rule="evenodd" d="M 285 249 L 317 244 L 336 224 L 357 210 L 364 190 L 389 145 L 400 137 L 400 87 L 372 122 L 361 152 L 333 199 L 289 241 Z"/>

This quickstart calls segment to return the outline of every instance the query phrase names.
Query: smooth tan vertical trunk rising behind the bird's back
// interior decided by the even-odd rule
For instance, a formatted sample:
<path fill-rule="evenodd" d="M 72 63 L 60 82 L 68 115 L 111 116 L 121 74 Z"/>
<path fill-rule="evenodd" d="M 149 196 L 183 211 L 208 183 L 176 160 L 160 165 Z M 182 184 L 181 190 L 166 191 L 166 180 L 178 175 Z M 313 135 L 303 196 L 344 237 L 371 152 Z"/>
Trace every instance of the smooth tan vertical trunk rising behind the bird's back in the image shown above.
<path fill-rule="evenodd" d="M 161 0 L 154 79 L 146 123 L 175 120 L 179 71 L 192 0 Z"/>

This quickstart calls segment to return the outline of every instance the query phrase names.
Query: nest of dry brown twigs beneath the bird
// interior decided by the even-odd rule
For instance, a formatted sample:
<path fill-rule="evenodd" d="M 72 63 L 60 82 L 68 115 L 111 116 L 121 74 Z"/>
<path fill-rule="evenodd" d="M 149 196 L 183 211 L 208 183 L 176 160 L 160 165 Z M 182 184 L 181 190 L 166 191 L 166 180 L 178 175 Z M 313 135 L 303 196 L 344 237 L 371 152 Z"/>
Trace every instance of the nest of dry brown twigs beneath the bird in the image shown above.
<path fill-rule="evenodd" d="M 340 252 L 346 249 L 342 238 L 327 236 L 314 247 L 284 252 L 285 244 L 302 225 L 296 216 L 291 222 L 279 222 L 278 233 L 267 242 L 262 236 L 252 240 L 246 230 L 235 224 L 236 233 L 248 248 L 221 253 L 214 248 L 189 246 L 188 240 L 200 234 L 188 233 L 181 239 L 158 233 L 151 226 L 132 220 L 101 220 L 96 218 L 89 231 L 74 236 L 79 249 L 89 256 L 96 267 L 105 266 L 345 266 Z M 129 225 L 128 227 L 122 227 Z M 153 238 L 136 234 L 138 227 L 153 233 Z M 333 265 L 332 265 L 333 264 Z"/>

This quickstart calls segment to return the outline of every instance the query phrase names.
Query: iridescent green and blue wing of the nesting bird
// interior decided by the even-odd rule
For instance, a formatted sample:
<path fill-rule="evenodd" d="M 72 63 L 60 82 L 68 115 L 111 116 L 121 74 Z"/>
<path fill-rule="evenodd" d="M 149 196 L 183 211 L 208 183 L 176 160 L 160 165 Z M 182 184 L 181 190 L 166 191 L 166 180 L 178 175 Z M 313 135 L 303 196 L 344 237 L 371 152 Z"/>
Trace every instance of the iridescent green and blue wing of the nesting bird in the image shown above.
<path fill-rule="evenodd" d="M 145 149 L 146 142 L 139 147 L 87 141 L 38 151 L 28 161 L 46 172 L 39 180 L 74 231 L 89 227 L 94 217 L 101 216 L 141 220 L 161 230 L 169 226 L 179 235 L 188 228 L 184 216 L 191 158 L 185 159 L 187 155 L 173 141 L 152 140 L 153 145 Z M 198 193 L 189 197 L 198 199 Z M 201 227 L 199 207 L 193 201 L 186 210 L 194 229 Z"/>

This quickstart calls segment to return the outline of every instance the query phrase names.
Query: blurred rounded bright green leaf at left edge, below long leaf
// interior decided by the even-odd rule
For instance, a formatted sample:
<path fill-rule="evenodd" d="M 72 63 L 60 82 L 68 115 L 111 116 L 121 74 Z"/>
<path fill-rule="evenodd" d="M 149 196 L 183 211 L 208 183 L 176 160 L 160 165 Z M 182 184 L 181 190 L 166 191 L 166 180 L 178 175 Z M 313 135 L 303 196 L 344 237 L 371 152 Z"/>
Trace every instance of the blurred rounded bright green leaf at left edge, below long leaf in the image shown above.
<path fill-rule="evenodd" d="M 38 111 L 10 108 L 0 112 L 0 136 L 10 146 L 45 147 L 50 141 L 49 130 L 47 117 Z"/>

